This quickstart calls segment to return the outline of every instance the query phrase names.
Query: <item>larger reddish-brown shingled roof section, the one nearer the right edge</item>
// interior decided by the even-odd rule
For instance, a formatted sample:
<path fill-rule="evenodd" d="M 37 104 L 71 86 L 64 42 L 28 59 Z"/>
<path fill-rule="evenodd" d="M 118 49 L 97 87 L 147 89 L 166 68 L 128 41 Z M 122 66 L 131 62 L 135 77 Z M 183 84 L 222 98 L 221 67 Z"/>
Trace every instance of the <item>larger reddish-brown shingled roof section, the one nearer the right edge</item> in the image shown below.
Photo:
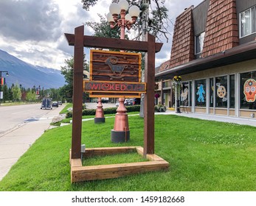
<path fill-rule="evenodd" d="M 210 0 L 202 57 L 239 45 L 235 0 Z"/>

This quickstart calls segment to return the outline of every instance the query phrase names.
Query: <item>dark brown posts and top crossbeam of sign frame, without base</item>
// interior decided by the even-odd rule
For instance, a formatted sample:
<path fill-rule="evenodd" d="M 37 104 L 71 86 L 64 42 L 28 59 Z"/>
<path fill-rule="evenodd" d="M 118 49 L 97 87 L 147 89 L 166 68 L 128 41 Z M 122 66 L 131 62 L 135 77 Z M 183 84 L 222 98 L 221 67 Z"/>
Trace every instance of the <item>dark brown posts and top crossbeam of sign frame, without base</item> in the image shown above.
<path fill-rule="evenodd" d="M 83 102 L 83 46 L 123 49 L 131 51 L 145 51 L 145 82 L 147 94 L 145 96 L 144 121 L 144 155 L 154 154 L 154 88 L 155 88 L 155 53 L 160 51 L 162 43 L 155 43 L 152 35 L 147 35 L 148 41 L 120 40 L 114 38 L 99 38 L 83 36 L 83 26 L 75 29 L 75 35 L 65 34 L 69 46 L 75 46 L 74 69 L 74 109 L 72 126 L 72 159 L 80 158 L 82 102 Z"/>

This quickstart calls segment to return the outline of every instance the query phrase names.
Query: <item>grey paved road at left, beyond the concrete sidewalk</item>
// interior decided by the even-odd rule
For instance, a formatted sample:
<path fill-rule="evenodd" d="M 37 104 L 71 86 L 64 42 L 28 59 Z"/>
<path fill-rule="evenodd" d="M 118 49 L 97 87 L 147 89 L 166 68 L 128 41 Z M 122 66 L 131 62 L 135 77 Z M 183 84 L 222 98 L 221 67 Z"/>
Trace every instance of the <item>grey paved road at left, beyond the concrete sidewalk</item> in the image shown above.
<path fill-rule="evenodd" d="M 40 108 L 41 104 L 0 106 L 0 137 L 15 127 L 21 127 L 27 121 L 38 120 L 51 112 Z M 53 110 L 55 109 L 56 107 L 53 107 Z"/>

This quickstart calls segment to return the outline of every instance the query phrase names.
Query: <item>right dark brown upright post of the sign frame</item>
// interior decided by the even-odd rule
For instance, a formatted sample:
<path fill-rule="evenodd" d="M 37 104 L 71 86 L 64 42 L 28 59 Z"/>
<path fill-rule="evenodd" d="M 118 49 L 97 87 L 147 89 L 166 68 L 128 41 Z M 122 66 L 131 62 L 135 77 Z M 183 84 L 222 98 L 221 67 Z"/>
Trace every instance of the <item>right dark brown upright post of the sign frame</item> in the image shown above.
<path fill-rule="evenodd" d="M 155 119 L 154 119 L 154 90 L 155 90 L 155 53 L 156 44 L 153 35 L 147 35 L 148 53 L 145 55 L 145 82 L 147 93 L 145 94 L 144 110 L 144 157 L 154 154 Z"/>

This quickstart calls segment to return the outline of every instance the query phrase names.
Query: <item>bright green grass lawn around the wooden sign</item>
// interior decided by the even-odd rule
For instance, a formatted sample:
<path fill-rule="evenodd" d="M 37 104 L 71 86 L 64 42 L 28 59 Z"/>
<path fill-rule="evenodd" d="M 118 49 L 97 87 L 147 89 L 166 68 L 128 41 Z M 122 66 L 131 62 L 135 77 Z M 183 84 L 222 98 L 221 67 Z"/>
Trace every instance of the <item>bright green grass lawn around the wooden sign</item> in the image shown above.
<path fill-rule="evenodd" d="M 256 191 L 255 127 L 180 116 L 155 120 L 155 153 L 170 163 L 168 171 L 71 184 L 69 125 L 46 131 L 1 180 L 0 191 Z M 86 148 L 143 146 L 143 118 L 129 117 L 131 141 L 118 144 L 111 143 L 114 118 L 105 121 L 83 122 Z M 137 156 L 99 161 L 111 163 L 111 158 L 126 161 Z"/>

